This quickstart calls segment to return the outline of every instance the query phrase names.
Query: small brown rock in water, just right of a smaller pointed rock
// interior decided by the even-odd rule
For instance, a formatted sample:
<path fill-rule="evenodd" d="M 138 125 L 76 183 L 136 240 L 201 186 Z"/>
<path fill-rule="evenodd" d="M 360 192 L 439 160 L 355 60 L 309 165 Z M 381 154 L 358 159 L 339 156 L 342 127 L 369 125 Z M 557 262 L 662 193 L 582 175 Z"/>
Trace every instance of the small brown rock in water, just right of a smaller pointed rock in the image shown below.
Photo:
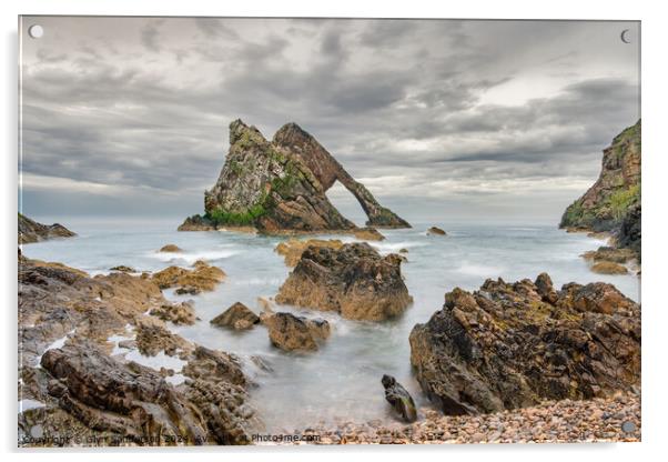
<path fill-rule="evenodd" d="M 285 351 L 317 350 L 316 339 L 330 334 L 330 323 L 324 320 L 310 320 L 291 313 L 275 313 L 263 321 L 269 329 L 272 344 Z"/>

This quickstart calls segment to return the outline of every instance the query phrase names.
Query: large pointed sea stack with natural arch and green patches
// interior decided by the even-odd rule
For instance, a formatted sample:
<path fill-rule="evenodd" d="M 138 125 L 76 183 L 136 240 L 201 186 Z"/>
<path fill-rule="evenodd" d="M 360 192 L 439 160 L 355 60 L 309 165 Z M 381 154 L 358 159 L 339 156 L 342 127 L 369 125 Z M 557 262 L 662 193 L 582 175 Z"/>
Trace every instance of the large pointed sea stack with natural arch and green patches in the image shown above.
<path fill-rule="evenodd" d="M 255 127 L 237 119 L 230 124 L 230 151 L 221 174 L 204 192 L 205 214 L 186 219 L 179 230 L 353 231 L 355 224 L 325 194 L 337 180 L 360 201 L 367 225 L 411 228 L 296 123 L 283 125 L 267 141 Z"/>

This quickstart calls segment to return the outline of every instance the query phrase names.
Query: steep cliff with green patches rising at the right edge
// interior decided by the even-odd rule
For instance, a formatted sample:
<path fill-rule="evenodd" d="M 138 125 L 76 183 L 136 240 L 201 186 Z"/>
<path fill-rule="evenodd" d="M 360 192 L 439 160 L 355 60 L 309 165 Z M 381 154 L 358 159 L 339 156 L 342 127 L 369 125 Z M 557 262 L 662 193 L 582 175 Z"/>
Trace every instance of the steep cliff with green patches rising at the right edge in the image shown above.
<path fill-rule="evenodd" d="M 560 228 L 610 231 L 621 247 L 640 251 L 640 120 L 604 150 L 598 180 L 570 204 Z"/>

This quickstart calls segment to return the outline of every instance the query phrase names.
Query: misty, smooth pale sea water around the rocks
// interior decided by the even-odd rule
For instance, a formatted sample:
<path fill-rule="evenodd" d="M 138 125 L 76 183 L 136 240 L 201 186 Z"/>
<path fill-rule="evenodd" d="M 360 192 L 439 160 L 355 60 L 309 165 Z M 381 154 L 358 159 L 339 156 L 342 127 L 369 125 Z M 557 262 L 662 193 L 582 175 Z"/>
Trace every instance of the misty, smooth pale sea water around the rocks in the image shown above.
<path fill-rule="evenodd" d="M 370 243 L 381 253 L 408 250 L 408 262 L 402 265 L 402 271 L 414 304 L 401 318 L 379 323 L 277 307 L 324 318 L 333 328 L 331 338 L 317 352 L 285 353 L 270 344 L 263 327 L 233 332 L 209 323 L 237 301 L 260 312 L 257 298 L 276 294 L 290 272 L 283 258 L 274 252 L 284 238 L 176 232 L 179 221 L 70 220 L 67 225 L 79 233 L 78 238 L 28 244 L 23 252 L 29 258 L 59 261 L 92 274 L 107 273 L 118 264 L 156 271 L 170 264 L 188 267 L 199 259 L 222 268 L 227 278 L 213 292 L 180 297 L 165 291 L 171 300 L 193 300 L 200 318 L 194 325 L 172 329 L 189 340 L 236 353 L 243 360 L 246 373 L 257 383 L 250 390 L 252 404 L 271 432 L 323 422 L 394 421 L 381 385 L 385 373 L 396 376 L 418 406 L 427 406 L 412 375 L 408 334 L 416 323 L 426 322 L 442 308 L 445 292 L 455 287 L 474 290 L 487 278 L 502 277 L 510 282 L 535 279 L 546 271 L 556 287 L 570 281 L 605 281 L 631 299 L 640 297 L 637 277 L 589 271 L 579 255 L 605 242 L 585 234 L 566 233 L 556 227 L 413 222 L 413 229 L 383 230 L 387 239 Z M 445 229 L 448 235 L 426 235 L 425 230 L 431 225 Z M 334 238 L 354 241 L 341 235 Z M 174 243 L 184 252 L 156 252 L 166 243 Z M 129 359 L 139 359 L 134 356 L 135 352 L 128 352 Z M 251 356 L 260 356 L 271 371 L 257 368 Z M 159 366 L 159 360 L 146 360 L 146 364 Z"/>

